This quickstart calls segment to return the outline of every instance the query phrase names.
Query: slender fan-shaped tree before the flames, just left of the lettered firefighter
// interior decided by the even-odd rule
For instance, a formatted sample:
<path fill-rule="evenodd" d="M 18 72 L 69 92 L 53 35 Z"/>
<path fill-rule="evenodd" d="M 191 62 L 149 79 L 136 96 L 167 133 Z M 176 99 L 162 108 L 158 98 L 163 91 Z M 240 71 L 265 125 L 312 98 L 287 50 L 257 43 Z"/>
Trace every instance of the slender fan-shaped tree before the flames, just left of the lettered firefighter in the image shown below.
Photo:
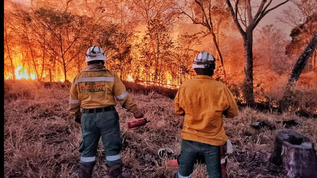
<path fill-rule="evenodd" d="M 35 10 L 31 17 L 33 21 L 29 24 L 30 28 L 44 41 L 47 55 L 60 64 L 67 81 L 67 71 L 76 66 L 72 60 L 86 48 L 83 31 L 87 30 L 88 19 L 85 16 L 43 8 Z M 38 30 L 38 26 L 44 28 L 47 34 Z"/>

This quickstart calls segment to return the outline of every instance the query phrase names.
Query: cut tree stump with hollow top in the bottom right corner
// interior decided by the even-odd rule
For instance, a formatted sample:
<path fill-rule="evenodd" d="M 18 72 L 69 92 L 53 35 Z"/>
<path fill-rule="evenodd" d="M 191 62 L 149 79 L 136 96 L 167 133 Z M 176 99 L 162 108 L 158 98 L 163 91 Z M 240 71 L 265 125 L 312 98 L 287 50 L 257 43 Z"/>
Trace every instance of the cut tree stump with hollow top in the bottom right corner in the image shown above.
<path fill-rule="evenodd" d="M 286 178 L 317 178 L 317 155 L 309 138 L 292 130 L 277 132 L 270 162 L 281 165 Z"/>

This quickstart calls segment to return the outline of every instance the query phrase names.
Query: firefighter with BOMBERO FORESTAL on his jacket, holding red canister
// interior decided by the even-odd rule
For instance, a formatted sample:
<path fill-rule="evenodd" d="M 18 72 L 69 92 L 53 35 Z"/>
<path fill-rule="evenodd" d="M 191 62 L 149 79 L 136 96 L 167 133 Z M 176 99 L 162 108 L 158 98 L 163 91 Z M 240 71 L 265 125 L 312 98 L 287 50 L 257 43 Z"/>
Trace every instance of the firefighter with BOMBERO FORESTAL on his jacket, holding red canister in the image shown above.
<path fill-rule="evenodd" d="M 88 66 L 76 75 L 70 88 L 69 111 L 74 120 L 81 123 L 79 174 L 83 178 L 92 177 L 100 137 L 110 178 L 123 177 L 122 141 L 115 98 L 135 118 L 143 117 L 118 75 L 104 67 L 105 60 L 107 57 L 100 47 L 90 47 L 86 53 Z"/>

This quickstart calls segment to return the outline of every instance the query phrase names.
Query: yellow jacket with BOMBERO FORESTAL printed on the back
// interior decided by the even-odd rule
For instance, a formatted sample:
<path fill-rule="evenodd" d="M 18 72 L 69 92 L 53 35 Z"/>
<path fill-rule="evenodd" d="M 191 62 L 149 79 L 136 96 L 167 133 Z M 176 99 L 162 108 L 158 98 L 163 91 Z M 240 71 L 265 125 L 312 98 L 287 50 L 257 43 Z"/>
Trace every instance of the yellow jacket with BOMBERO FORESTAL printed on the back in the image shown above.
<path fill-rule="evenodd" d="M 85 67 L 76 75 L 70 88 L 70 114 L 80 116 L 80 108 L 91 109 L 113 105 L 116 100 L 123 108 L 134 113 L 138 112 L 126 91 L 126 87 L 116 73 L 107 70 L 101 63 Z"/>

